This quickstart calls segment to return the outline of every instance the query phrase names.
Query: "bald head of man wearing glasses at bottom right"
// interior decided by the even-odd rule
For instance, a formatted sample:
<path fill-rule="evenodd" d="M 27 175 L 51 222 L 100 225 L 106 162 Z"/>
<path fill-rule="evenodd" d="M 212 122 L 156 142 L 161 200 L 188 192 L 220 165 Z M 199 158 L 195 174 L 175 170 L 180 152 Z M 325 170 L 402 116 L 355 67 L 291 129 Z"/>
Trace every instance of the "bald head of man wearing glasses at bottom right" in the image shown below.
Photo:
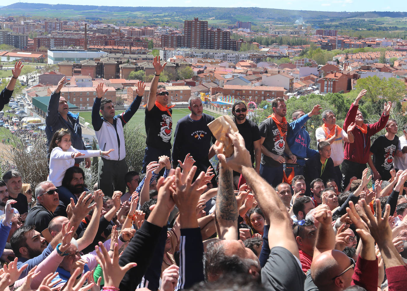
<path fill-rule="evenodd" d="M 319 291 L 340 291 L 350 286 L 354 269 L 349 269 L 350 258 L 344 252 L 336 249 L 323 252 L 313 258 L 311 264 L 311 278 Z M 335 279 L 333 279 L 337 276 Z"/>

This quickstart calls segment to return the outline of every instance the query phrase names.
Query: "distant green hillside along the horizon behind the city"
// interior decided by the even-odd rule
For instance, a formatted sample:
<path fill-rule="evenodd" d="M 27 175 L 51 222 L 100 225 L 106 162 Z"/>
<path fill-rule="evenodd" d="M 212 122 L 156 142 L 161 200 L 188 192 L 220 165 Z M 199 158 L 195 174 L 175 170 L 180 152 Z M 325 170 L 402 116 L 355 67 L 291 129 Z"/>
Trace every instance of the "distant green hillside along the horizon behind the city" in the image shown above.
<path fill-rule="evenodd" d="M 2 15 L 24 15 L 32 17 L 60 18 L 71 20 L 110 20 L 145 24 L 174 25 L 184 20 L 198 17 L 208 20 L 210 25 L 230 25 L 236 21 L 252 21 L 254 25 L 274 23 L 292 25 L 295 23 L 315 24 L 313 27 L 329 28 L 333 23 L 339 26 L 346 22 L 350 28 L 359 22 L 373 20 L 372 25 L 385 25 L 376 22 L 379 18 L 405 18 L 407 12 L 328 12 L 258 7 L 120 7 L 70 4 L 14 3 L 0 8 Z M 350 22 L 348 21 L 350 19 Z M 357 21 L 356 21 L 356 20 Z M 405 21 L 405 20 L 404 20 Z M 368 23 L 365 23 L 368 24 Z M 397 27 L 399 25 L 396 25 Z M 363 25 L 362 25 L 363 27 Z M 354 29 L 356 29 L 355 27 Z M 352 29 L 352 28 L 351 28 Z M 363 27 L 363 29 L 366 29 Z"/>

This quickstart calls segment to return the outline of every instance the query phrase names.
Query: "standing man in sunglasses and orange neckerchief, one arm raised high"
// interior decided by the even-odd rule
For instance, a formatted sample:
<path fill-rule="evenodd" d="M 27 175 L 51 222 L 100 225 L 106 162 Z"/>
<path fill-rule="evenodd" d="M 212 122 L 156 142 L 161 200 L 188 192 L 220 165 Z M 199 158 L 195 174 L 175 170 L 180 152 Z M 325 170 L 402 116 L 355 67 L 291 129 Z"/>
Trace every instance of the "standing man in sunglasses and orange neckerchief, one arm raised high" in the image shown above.
<path fill-rule="evenodd" d="M 171 157 L 171 135 L 173 133 L 171 108 L 175 105 L 168 106 L 170 102 L 168 91 L 164 85 L 158 85 L 158 79 L 166 64 L 161 64 L 160 57 L 154 57 L 155 73 L 151 81 L 144 118 L 147 138 L 142 173 L 146 173 L 147 165 L 152 161 L 157 161 L 158 157 L 162 155 Z M 160 174 L 164 174 L 164 170 Z"/>

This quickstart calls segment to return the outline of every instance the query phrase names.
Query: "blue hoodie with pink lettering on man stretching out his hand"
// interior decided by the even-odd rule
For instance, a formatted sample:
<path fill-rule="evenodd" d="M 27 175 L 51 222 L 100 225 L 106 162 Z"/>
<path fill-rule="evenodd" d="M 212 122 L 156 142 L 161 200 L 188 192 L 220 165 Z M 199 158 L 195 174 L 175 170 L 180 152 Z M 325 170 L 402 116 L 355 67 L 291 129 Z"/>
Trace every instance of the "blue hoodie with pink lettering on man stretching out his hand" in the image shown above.
<path fill-rule="evenodd" d="M 291 152 L 297 156 L 297 164 L 301 166 L 305 166 L 304 158 L 312 158 L 318 153 L 318 151 L 309 148 L 311 138 L 304 126 L 309 119 L 310 117 L 308 117 L 308 114 L 304 114 L 300 118 L 291 122 L 291 131 L 287 137 L 287 144 Z"/>

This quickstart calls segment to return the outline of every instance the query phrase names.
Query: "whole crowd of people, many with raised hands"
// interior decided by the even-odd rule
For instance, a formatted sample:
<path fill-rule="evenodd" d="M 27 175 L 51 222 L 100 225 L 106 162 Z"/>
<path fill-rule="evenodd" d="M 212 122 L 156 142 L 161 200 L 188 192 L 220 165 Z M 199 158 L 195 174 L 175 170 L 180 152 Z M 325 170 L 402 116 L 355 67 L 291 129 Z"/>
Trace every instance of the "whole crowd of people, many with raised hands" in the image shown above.
<path fill-rule="evenodd" d="M 235 127 L 217 140 L 214 117 L 191 97 L 171 145 L 172 105 L 158 85 L 165 65 L 154 58 L 140 171 L 128 171 L 123 128 L 144 82 L 121 114 L 98 85 L 100 150 L 88 151 L 61 79 L 46 116 L 47 181 L 23 184 L 18 165 L 0 181 L 0 290 L 407 290 L 407 125 L 397 137 L 391 103 L 365 124 L 362 90 L 341 128 L 318 104 L 288 123 L 276 98 L 256 125 L 236 102 Z M 319 114 L 324 124 L 312 141 L 306 121 Z M 99 156 L 98 182 L 87 186 L 79 163 Z"/>

